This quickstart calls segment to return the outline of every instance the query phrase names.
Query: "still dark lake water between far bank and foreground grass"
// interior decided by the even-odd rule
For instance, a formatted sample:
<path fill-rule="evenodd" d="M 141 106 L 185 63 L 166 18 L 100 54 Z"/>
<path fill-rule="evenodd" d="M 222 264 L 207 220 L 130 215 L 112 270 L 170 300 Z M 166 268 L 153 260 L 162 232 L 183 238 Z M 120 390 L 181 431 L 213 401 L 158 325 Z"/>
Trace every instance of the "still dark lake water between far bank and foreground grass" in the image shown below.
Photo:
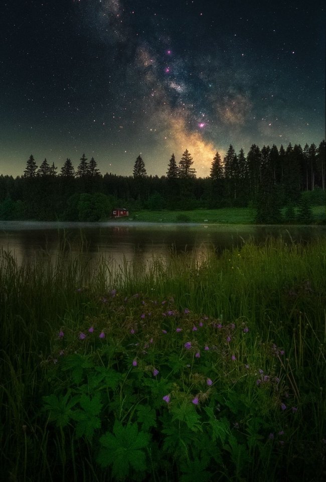
<path fill-rule="evenodd" d="M 117 263 L 146 261 L 171 251 L 208 254 L 241 246 L 248 239 L 261 244 L 279 236 L 288 242 L 310 242 L 326 236 L 326 226 L 0 221 L 0 249 L 19 264 L 40 252 L 53 259 L 83 252 L 94 261 L 101 256 Z"/>

